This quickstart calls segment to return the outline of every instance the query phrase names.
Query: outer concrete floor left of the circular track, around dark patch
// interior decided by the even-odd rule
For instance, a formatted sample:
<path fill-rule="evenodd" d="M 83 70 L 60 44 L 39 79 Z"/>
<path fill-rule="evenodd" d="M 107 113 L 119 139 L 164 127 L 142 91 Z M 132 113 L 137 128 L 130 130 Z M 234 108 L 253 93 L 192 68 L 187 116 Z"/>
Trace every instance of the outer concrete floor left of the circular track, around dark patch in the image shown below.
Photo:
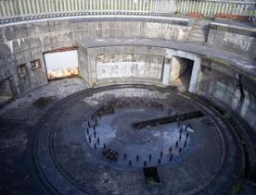
<path fill-rule="evenodd" d="M 52 81 L 0 110 L 0 193 L 48 194 L 32 164 L 32 134 L 45 111 L 60 99 L 86 89 L 82 79 Z M 40 97 L 54 97 L 44 108 L 32 103 Z"/>

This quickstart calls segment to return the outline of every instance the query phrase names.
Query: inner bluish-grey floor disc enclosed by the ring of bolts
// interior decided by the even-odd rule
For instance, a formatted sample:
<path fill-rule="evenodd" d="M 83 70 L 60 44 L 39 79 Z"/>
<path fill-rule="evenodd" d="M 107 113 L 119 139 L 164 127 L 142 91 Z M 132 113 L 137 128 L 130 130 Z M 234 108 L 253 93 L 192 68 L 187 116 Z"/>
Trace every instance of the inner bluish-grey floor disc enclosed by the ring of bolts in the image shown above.
<path fill-rule="evenodd" d="M 135 105 L 130 106 L 129 108 L 116 109 L 113 115 L 102 116 L 101 119 L 98 118 L 96 138 L 94 137 L 93 128 L 89 128 L 89 135 L 85 132 L 88 143 L 89 137 L 91 137 L 89 145 L 94 149 L 94 144 L 96 144 L 95 153 L 98 159 L 106 161 L 101 152 L 105 143 L 108 148 L 116 149 L 119 152 L 117 162 L 108 161 L 109 165 L 113 167 L 121 166 L 127 170 L 141 169 L 145 161 L 147 166 L 158 166 L 159 159 L 160 165 L 167 164 L 170 162 L 170 147 L 172 147 L 173 156 L 177 157 L 173 157 L 172 163 L 177 163 L 179 161 L 180 147 L 183 152 L 186 152 L 190 142 L 190 137 L 186 139 L 185 127 L 181 134 L 182 138 L 179 141 L 179 146 L 175 147 L 175 142 L 179 140 L 180 135 L 178 123 L 143 129 L 134 129 L 132 127 L 132 124 L 137 121 L 167 116 L 167 109 L 161 111 L 143 105 L 137 107 Z M 99 139 L 99 144 L 97 143 L 97 138 Z M 186 148 L 184 147 L 185 141 Z M 163 152 L 161 158 L 160 152 Z M 123 157 L 124 153 L 127 155 L 126 158 Z M 150 154 L 152 159 L 149 162 L 148 156 Z M 139 155 L 138 160 L 136 155 Z M 132 161 L 131 166 L 128 165 L 130 160 Z"/>

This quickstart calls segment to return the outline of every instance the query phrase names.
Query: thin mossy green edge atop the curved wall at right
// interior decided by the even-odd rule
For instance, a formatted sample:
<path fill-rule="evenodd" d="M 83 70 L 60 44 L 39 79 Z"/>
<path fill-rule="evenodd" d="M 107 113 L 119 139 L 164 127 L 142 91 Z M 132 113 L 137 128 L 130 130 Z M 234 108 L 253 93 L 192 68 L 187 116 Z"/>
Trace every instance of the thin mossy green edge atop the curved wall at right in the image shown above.
<path fill-rule="evenodd" d="M 237 68 L 237 67 L 234 67 L 234 66 L 230 65 L 228 62 L 225 62 L 225 61 L 222 60 L 222 59 L 219 59 L 219 58 L 216 58 L 216 57 L 212 57 L 212 56 L 210 56 L 210 55 L 203 55 L 203 56 L 202 56 L 202 59 L 207 60 L 207 61 L 214 62 L 214 63 L 216 63 L 216 64 L 218 64 L 218 65 L 223 66 L 223 67 L 227 67 L 227 68 L 229 68 L 229 69 L 232 69 L 232 70 L 234 70 L 235 72 L 240 73 L 241 75 L 243 75 L 243 76 L 249 78 L 251 81 L 253 81 L 253 82 L 256 83 L 256 77 L 250 75 L 249 73 L 244 72 L 243 70 L 241 70 L 241 69 L 239 69 L 239 68 Z"/>

